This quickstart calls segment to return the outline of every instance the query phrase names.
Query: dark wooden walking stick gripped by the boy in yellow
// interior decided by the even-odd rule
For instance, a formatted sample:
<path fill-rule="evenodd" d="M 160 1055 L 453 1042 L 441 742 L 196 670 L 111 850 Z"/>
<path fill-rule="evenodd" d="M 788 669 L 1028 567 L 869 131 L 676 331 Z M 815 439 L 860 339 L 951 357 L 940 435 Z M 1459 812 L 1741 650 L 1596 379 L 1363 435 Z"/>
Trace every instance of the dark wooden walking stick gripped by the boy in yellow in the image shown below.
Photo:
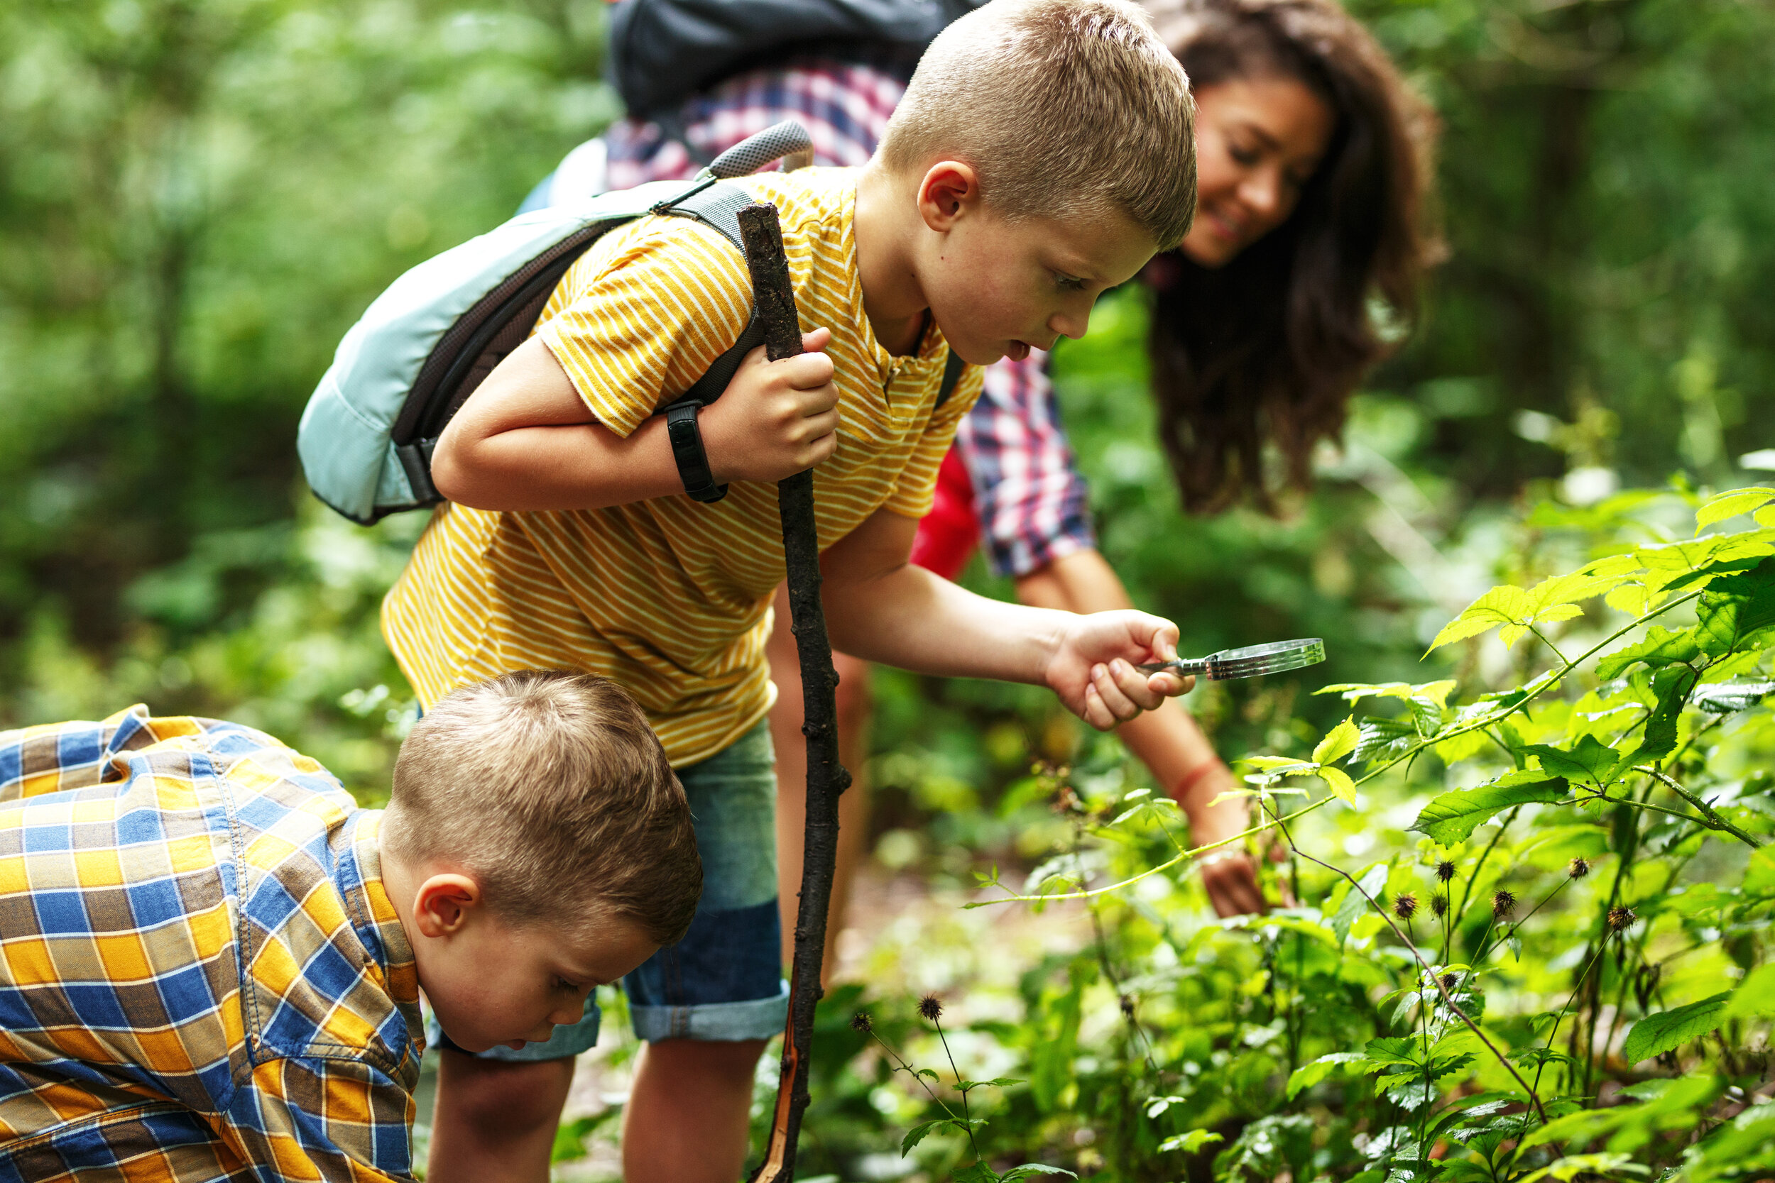
<path fill-rule="evenodd" d="M 801 316 L 788 282 L 783 231 L 776 206 L 754 202 L 738 213 L 746 266 L 753 273 L 753 300 L 765 328 L 765 356 L 772 362 L 801 353 Z M 808 1054 L 813 1009 L 824 993 L 820 961 L 825 956 L 825 913 L 838 864 L 838 795 L 850 773 L 838 763 L 838 670 L 820 607 L 820 536 L 813 518 L 813 470 L 777 481 L 783 514 L 783 557 L 788 568 L 788 607 L 801 660 L 801 695 L 808 738 L 808 828 L 801 864 L 801 908 L 795 919 L 795 961 L 788 988 L 788 1027 L 783 1032 L 783 1073 L 777 1084 L 770 1144 L 753 1183 L 790 1183 L 795 1144 L 808 1109 Z"/>

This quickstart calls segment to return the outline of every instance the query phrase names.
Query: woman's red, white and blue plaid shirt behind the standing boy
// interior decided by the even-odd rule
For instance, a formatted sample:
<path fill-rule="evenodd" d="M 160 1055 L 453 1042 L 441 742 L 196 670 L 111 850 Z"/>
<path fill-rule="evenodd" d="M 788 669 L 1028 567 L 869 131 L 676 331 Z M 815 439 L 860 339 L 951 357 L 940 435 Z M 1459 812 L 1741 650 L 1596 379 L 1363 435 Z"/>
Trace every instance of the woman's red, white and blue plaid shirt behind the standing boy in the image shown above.
<path fill-rule="evenodd" d="M 813 137 L 818 165 L 861 165 L 875 151 L 905 92 L 893 73 L 859 62 L 801 59 L 737 74 L 651 122 L 625 119 L 573 149 L 532 199 L 559 204 L 586 193 L 692 176 L 728 147 L 783 119 Z M 1047 355 L 987 369 L 985 390 L 955 433 L 974 486 L 987 559 L 998 575 L 1030 575 L 1097 544 L 1085 477 L 1060 426 Z"/>

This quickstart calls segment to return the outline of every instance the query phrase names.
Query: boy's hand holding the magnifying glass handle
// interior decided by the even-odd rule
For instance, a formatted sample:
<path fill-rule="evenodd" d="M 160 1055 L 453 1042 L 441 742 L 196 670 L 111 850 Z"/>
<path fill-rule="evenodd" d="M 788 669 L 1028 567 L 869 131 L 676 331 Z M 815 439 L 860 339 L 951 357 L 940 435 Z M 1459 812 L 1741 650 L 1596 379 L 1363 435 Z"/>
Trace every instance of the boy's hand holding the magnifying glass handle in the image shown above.
<path fill-rule="evenodd" d="M 1177 626 L 1145 612 L 1072 615 L 1054 637 L 1044 681 L 1067 709 L 1109 731 L 1164 699 L 1189 693 L 1195 678 L 1143 674 L 1136 663 L 1177 658 Z"/>

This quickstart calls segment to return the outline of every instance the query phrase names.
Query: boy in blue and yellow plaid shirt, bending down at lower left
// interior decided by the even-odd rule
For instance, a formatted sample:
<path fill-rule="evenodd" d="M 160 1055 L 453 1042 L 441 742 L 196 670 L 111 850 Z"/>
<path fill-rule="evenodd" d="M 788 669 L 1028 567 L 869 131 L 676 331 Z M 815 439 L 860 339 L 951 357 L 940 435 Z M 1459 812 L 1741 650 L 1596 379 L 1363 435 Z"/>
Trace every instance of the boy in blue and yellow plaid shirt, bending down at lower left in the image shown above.
<path fill-rule="evenodd" d="M 602 678 L 444 697 L 387 811 L 240 724 L 0 733 L 0 1179 L 408 1178 L 421 988 L 460 1046 L 545 1041 L 699 890 Z"/>

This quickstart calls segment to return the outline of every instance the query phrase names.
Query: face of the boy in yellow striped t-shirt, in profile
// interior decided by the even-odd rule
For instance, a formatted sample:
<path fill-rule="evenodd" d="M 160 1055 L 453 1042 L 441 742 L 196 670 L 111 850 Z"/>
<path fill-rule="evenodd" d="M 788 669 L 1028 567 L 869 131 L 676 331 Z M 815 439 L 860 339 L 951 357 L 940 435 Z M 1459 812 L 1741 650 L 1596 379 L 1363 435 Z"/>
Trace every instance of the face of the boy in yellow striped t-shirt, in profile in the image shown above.
<path fill-rule="evenodd" d="M 966 172 L 944 179 L 943 168 Z M 1157 247 L 1122 215 L 1010 222 L 982 202 L 966 165 L 937 165 L 919 190 L 918 280 L 950 346 L 974 365 L 1022 360 L 1083 337 L 1092 305 Z"/>

